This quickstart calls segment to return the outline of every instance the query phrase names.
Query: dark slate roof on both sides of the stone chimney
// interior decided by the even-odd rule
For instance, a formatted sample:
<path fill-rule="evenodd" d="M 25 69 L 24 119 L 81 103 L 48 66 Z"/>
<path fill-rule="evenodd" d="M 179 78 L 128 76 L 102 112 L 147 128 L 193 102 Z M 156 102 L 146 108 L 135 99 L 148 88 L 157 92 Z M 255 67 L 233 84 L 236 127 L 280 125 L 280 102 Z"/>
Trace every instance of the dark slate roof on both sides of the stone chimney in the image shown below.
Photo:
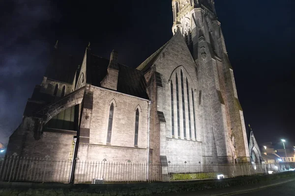
<path fill-rule="evenodd" d="M 90 54 L 90 61 L 88 62 L 90 63 L 90 66 L 88 65 L 87 69 L 90 68 L 88 74 L 91 74 L 91 84 L 93 86 L 101 87 L 100 82 L 107 74 L 110 60 Z M 149 99 L 146 92 L 144 72 L 122 64 L 118 64 L 118 66 L 119 75 L 117 92 L 138 98 Z"/>

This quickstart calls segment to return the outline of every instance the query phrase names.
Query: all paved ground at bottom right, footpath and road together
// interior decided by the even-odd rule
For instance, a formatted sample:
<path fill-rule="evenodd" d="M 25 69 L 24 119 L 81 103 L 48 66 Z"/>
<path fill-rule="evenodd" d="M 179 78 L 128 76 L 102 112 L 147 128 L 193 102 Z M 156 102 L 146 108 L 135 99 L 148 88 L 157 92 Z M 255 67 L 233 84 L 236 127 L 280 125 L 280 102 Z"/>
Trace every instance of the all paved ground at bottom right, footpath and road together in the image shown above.
<path fill-rule="evenodd" d="M 196 192 L 164 194 L 157 196 L 295 196 L 295 178 L 276 179 L 248 186 L 209 189 Z"/>

